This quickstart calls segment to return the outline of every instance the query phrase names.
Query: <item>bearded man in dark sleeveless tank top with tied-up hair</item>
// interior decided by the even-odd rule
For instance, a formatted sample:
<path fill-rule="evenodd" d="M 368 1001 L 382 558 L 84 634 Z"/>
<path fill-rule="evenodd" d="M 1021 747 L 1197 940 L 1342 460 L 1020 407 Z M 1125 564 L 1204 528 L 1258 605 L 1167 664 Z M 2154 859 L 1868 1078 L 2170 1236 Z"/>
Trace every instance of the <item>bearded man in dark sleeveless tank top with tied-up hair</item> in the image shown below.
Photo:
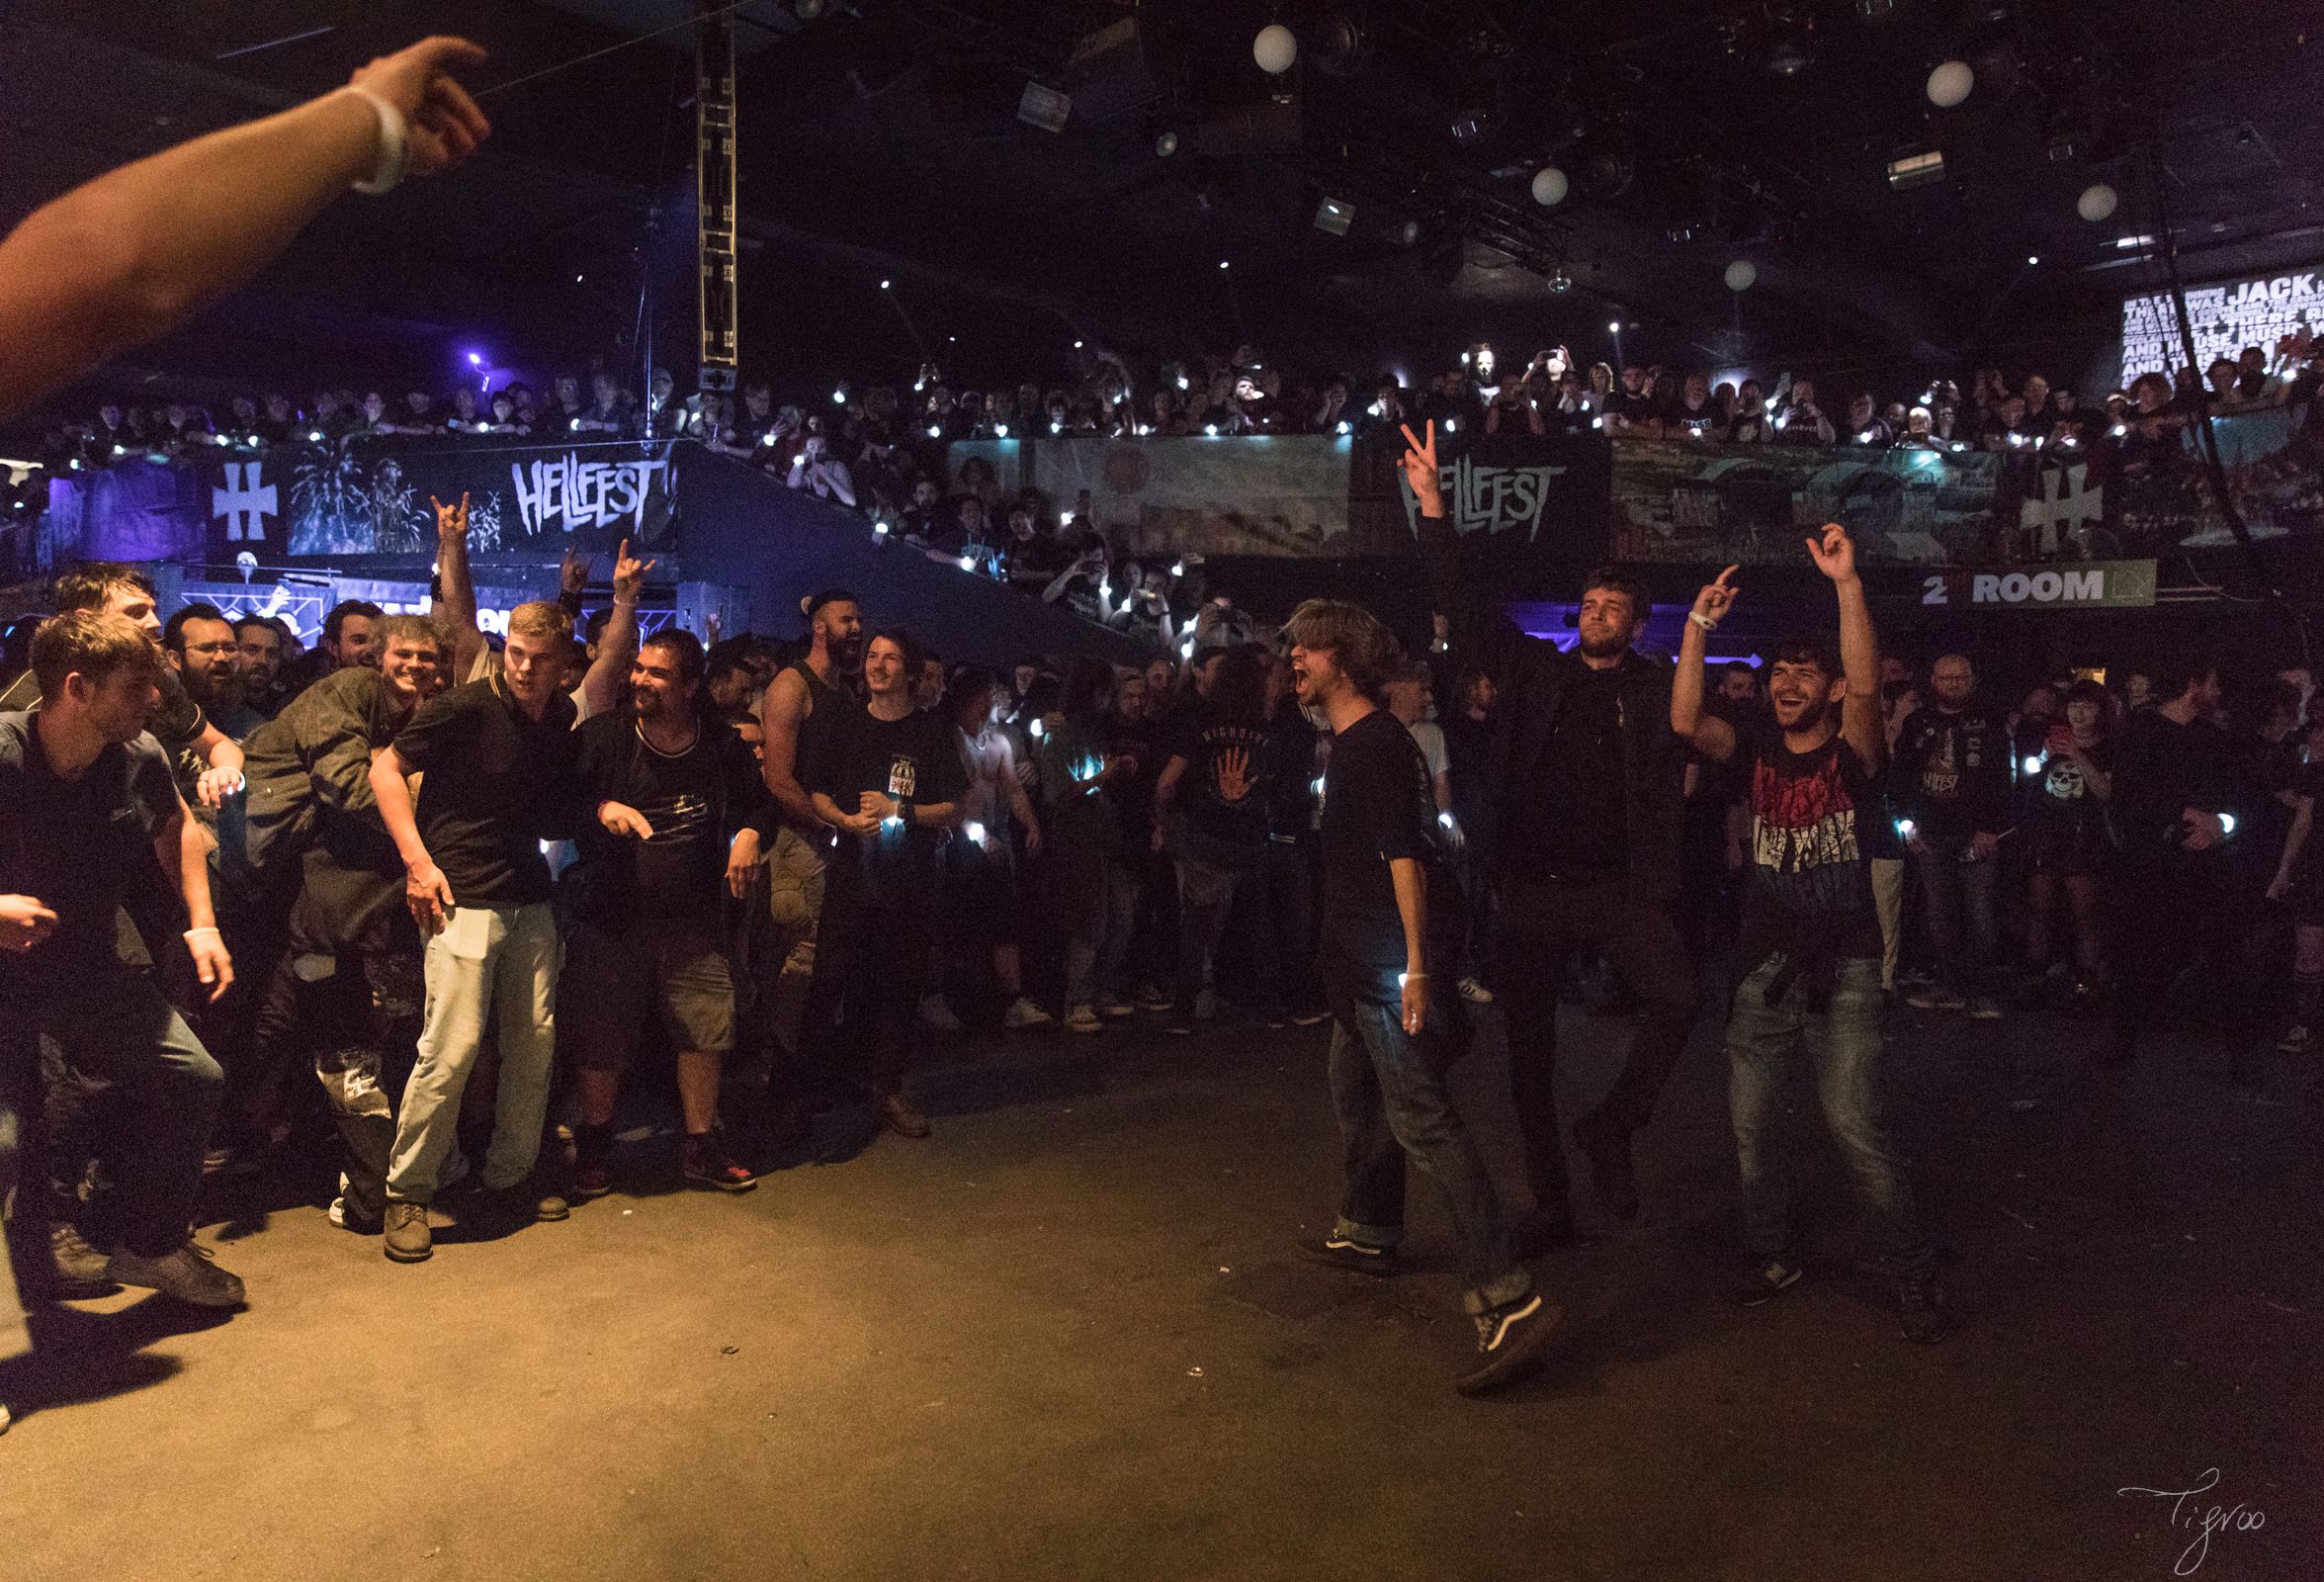
<path fill-rule="evenodd" d="M 825 894 L 823 853 L 832 843 L 832 825 L 823 820 L 806 794 L 799 767 L 813 762 L 823 750 L 823 739 L 862 709 L 855 692 L 848 690 L 862 667 L 865 620 L 855 595 L 846 588 L 825 588 L 806 599 L 804 611 L 806 653 L 774 674 L 758 709 L 765 732 L 760 771 L 783 815 L 767 862 L 767 913 L 774 918 L 776 932 L 772 959 L 781 962 L 769 992 L 769 1031 L 790 1052 L 795 1066 L 792 1087 L 783 1094 L 788 1113 L 776 1124 L 779 1131 L 795 1131 L 806 1117 L 813 1094 L 806 1092 L 811 1073 L 802 1059 L 804 1038 L 813 1013 L 825 1011 L 813 985 L 816 932 Z"/>

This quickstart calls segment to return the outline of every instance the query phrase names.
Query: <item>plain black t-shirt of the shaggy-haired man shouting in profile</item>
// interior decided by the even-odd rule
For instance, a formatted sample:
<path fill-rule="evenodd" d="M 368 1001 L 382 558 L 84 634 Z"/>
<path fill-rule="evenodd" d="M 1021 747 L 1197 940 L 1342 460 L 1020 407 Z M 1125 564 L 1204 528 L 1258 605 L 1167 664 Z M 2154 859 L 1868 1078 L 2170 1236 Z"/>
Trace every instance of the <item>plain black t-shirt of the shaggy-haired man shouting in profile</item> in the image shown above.
<path fill-rule="evenodd" d="M 1373 709 L 1332 736 L 1322 771 L 1322 952 L 1383 994 L 1406 962 L 1399 857 L 1436 857 L 1436 794 L 1413 734 Z"/>

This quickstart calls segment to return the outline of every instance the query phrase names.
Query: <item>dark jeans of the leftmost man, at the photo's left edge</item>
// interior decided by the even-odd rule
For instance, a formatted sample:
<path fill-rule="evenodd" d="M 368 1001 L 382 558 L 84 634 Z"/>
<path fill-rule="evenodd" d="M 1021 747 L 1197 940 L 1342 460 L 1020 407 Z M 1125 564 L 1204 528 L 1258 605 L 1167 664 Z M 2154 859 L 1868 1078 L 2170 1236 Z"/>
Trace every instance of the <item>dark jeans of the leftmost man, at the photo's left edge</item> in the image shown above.
<path fill-rule="evenodd" d="M 218 1062 L 146 973 L 123 966 L 88 978 L 26 983 L 23 990 L 0 999 L 0 1110 L 7 1113 L 0 1129 L 14 1136 L 0 1175 L 14 1180 L 44 1168 L 37 1120 L 40 1036 L 46 1034 L 60 1064 L 107 1085 L 107 1124 L 119 1127 L 102 1150 L 114 1187 L 88 1224 L 88 1238 L 142 1257 L 177 1252 L 186 1243 L 202 1187 L 202 1152 L 225 1090 Z M 33 1206 L 42 1196 L 23 1192 L 9 1229 L 19 1285 L 19 1234 L 37 1236 L 40 1259 L 46 1259 L 46 1215 Z M 23 1294 L 37 1299 L 44 1289 L 37 1282 Z"/>

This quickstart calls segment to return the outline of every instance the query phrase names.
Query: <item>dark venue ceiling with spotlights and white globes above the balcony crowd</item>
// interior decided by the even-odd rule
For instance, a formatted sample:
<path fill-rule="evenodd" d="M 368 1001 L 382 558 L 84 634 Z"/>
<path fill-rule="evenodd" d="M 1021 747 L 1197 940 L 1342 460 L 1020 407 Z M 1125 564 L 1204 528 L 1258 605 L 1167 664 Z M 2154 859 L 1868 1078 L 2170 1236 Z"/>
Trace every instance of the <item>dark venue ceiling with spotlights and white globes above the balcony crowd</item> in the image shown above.
<path fill-rule="evenodd" d="M 693 300 L 688 12 L 16 0 L 0 218 L 462 30 L 493 49 L 486 158 L 339 204 L 179 353 L 404 367 L 497 335 L 569 358 L 634 332 L 648 274 L 669 348 Z M 825 0 L 802 23 L 797 0 L 753 0 L 737 7 L 746 365 L 788 381 L 871 358 L 892 376 L 925 348 L 974 379 L 1039 376 L 1088 335 L 1134 355 L 1262 339 L 1360 372 L 1478 337 L 1604 355 L 1615 316 L 1638 325 L 1631 355 L 1683 360 L 2068 355 L 2154 279 L 2113 244 L 2164 216 L 2189 279 L 2324 256 L 2312 16 L 2229 0 Z M 1269 19 L 1301 35 L 1281 84 L 1250 53 Z M 1959 109 L 1922 86 L 1945 58 L 1975 67 Z M 1018 121 L 1027 81 L 1074 98 L 1062 132 Z M 1927 149 L 1945 179 L 1889 190 L 1887 163 Z M 1545 163 L 1571 174 L 1555 209 L 1529 197 Z M 2124 204 L 2085 225 L 2073 200 L 2099 179 Z M 1348 235 L 1313 225 L 1322 197 L 1353 204 Z M 1722 283 L 1734 258 L 1759 274 L 1741 295 Z"/>

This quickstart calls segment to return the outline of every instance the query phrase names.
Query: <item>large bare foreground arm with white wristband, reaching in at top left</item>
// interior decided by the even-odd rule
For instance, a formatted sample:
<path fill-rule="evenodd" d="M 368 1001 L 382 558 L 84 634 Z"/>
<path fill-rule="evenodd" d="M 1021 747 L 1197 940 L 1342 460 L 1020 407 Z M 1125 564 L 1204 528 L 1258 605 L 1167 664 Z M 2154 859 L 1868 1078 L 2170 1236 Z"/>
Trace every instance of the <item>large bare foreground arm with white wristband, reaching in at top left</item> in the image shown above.
<path fill-rule="evenodd" d="M 0 418 L 142 346 L 242 286 L 349 186 L 374 174 L 379 109 L 409 125 L 409 170 L 451 170 L 490 123 L 451 72 L 483 51 L 430 37 L 349 88 L 123 165 L 0 242 Z"/>

